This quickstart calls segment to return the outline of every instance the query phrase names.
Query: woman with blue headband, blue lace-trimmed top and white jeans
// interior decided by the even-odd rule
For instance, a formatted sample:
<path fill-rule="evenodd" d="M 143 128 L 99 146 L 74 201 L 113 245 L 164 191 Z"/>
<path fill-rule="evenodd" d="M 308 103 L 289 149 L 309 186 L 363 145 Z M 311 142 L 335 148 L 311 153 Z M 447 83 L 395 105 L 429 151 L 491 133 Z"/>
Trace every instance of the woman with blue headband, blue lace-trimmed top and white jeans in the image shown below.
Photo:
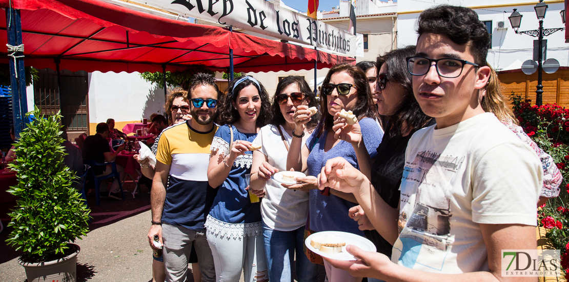
<path fill-rule="evenodd" d="M 259 81 L 245 76 L 230 83 L 208 166 L 209 185 L 218 187 L 205 222 L 217 282 L 238 281 L 241 271 L 245 282 L 269 281 L 261 204 L 249 196 L 246 178 L 253 161 L 251 142 L 270 118 L 269 95 Z"/>

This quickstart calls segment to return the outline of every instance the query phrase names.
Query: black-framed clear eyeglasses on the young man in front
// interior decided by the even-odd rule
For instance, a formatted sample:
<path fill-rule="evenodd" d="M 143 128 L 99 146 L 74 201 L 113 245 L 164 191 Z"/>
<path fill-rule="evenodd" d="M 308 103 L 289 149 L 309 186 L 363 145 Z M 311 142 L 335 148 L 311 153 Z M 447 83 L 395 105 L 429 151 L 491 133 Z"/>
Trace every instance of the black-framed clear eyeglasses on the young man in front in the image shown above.
<path fill-rule="evenodd" d="M 414 56 L 407 57 L 407 70 L 411 75 L 426 75 L 433 62 L 435 63 L 436 72 L 440 76 L 447 78 L 458 77 L 462 73 L 465 64 L 480 67 L 478 64 L 468 62 L 467 60 L 453 58 L 431 59 Z"/>

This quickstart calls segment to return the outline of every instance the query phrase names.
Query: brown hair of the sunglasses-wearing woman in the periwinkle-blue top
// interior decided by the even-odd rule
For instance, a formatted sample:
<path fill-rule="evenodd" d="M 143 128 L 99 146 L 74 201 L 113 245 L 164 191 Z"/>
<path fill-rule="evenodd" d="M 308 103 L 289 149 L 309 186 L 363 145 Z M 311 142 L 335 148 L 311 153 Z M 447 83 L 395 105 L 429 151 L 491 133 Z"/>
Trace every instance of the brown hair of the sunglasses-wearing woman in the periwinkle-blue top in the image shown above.
<path fill-rule="evenodd" d="M 374 109 L 372 96 L 369 94 L 369 83 L 368 77 L 365 73 L 356 66 L 349 63 L 342 63 L 333 66 L 327 73 L 322 84 L 330 82 L 330 78 L 334 73 L 337 72 L 347 72 L 354 79 L 354 87 L 356 87 L 357 102 L 356 107 L 352 109 L 354 115 L 356 115 L 358 120 L 364 117 L 376 118 L 376 110 Z M 320 130 L 318 136 L 322 134 L 324 129 L 332 130 L 332 125 L 334 125 L 334 117 L 328 112 L 328 95 L 322 95 L 320 98 L 320 109 L 323 112 L 322 119 L 320 120 Z M 324 112 L 325 111 L 325 112 Z M 319 125 L 320 125 L 319 124 Z"/>

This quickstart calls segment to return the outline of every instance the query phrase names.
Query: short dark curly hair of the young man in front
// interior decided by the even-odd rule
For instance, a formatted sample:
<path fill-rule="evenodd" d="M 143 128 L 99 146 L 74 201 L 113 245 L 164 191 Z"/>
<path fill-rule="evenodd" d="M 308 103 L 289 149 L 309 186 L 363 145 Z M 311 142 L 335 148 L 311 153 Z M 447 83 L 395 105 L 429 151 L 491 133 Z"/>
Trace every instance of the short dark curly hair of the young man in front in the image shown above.
<path fill-rule="evenodd" d="M 470 8 L 439 5 L 424 10 L 419 15 L 417 33 L 419 38 L 424 33 L 434 33 L 447 36 L 459 45 L 468 44 L 474 62 L 486 65 L 490 35 L 478 14 Z"/>

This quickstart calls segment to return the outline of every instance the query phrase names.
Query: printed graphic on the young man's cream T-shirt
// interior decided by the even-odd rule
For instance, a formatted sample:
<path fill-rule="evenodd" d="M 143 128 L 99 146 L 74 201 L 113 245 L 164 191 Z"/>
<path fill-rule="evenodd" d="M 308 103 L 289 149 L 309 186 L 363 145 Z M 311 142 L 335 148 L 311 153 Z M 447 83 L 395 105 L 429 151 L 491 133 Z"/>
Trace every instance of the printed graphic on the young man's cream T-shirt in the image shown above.
<path fill-rule="evenodd" d="M 419 263 L 442 269 L 444 260 L 423 261 L 419 253 L 447 252 L 454 242 L 454 236 L 451 235 L 451 195 L 448 190 L 452 177 L 464 160 L 465 157 L 422 151 L 417 153 L 413 162 L 406 162 L 398 219 L 399 239 L 404 246 L 401 259 L 406 267 L 413 268 Z M 413 205 L 412 212 L 407 204 Z"/>

